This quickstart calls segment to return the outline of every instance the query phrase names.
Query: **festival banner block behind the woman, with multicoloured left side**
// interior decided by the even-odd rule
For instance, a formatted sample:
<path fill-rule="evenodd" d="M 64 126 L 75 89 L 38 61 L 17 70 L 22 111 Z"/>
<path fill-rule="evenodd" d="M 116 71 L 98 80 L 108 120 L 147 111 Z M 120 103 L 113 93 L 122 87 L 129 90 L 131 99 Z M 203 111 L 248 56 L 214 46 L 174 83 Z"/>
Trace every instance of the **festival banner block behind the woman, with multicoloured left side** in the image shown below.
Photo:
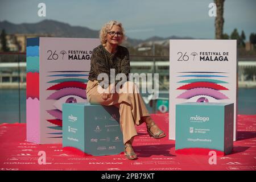
<path fill-rule="evenodd" d="M 62 104 L 87 102 L 93 48 L 99 39 L 27 39 L 27 141 L 62 142 Z"/>

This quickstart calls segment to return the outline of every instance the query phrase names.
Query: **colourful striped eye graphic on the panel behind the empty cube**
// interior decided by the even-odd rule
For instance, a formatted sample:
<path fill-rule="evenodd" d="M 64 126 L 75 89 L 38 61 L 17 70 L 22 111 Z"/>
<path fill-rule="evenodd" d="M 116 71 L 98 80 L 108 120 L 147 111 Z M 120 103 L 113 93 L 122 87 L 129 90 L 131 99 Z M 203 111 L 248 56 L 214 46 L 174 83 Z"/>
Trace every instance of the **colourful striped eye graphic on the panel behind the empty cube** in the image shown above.
<path fill-rule="evenodd" d="M 185 72 L 185 73 L 223 73 L 223 72 Z M 178 83 L 187 83 L 180 86 L 177 90 L 186 90 L 176 98 L 183 98 L 189 102 L 215 102 L 216 100 L 229 99 L 220 90 L 229 90 L 225 86 L 228 82 L 209 77 L 227 77 L 223 75 L 183 75 L 178 77 L 196 77 L 189 80 L 179 81 Z"/>

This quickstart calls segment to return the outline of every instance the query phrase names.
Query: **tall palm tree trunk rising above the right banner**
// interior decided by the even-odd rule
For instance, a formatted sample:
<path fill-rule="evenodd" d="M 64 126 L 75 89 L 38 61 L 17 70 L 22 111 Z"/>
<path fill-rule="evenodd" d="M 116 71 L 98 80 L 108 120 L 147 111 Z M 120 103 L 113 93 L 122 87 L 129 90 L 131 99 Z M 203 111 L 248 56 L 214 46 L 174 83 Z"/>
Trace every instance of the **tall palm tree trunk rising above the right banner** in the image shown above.
<path fill-rule="evenodd" d="M 214 0 L 217 7 L 217 16 L 215 18 L 215 39 L 222 39 L 223 35 L 223 12 L 224 12 L 224 1 L 225 0 Z"/>

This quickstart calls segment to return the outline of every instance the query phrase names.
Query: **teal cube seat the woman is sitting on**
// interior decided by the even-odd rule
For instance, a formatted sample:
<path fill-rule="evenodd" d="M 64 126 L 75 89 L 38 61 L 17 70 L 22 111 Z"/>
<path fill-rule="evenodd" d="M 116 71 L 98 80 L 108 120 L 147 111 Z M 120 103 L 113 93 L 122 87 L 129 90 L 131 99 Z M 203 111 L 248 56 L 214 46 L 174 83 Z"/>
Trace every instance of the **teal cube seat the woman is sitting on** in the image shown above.
<path fill-rule="evenodd" d="M 115 106 L 63 104 L 63 147 L 94 155 L 123 152 L 123 135 Z"/>

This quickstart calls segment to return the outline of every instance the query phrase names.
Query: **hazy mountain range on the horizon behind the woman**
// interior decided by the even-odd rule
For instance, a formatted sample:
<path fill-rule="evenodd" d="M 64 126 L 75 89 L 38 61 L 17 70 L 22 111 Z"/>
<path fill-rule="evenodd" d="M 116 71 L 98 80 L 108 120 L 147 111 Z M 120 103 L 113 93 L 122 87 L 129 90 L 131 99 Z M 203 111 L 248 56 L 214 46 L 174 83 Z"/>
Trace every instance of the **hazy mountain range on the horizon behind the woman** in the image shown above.
<path fill-rule="evenodd" d="M 6 34 L 42 34 L 51 35 L 54 37 L 63 38 L 98 38 L 100 30 L 92 30 L 88 27 L 71 26 L 68 23 L 58 22 L 56 20 L 42 20 L 38 23 L 21 23 L 14 24 L 6 20 L 0 21 L 0 30 L 5 29 Z M 123 43 L 125 46 L 141 47 L 150 46 L 154 42 L 160 46 L 169 46 L 170 39 L 193 39 L 191 37 L 178 37 L 170 36 L 168 38 L 161 38 L 159 36 L 153 36 L 146 40 L 127 38 Z"/>

